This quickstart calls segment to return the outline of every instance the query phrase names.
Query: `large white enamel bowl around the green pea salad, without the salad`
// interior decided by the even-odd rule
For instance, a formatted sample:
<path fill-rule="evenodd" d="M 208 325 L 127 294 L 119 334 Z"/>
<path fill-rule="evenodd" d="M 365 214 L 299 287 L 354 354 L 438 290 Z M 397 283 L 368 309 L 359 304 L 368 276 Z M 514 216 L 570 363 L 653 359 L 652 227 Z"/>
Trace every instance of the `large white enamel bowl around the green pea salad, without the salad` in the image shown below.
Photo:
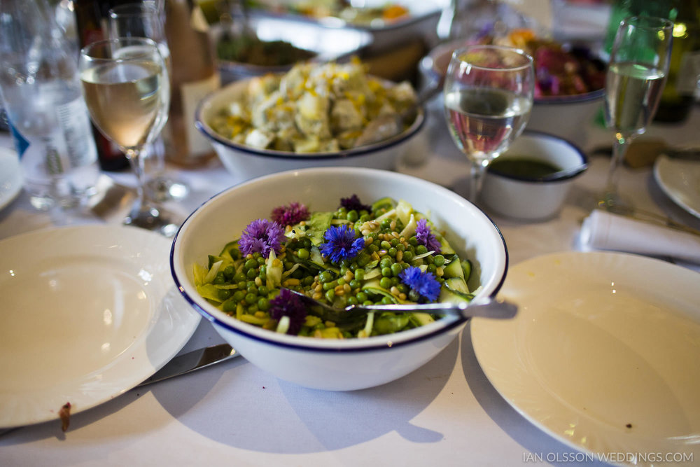
<path fill-rule="evenodd" d="M 507 270 L 507 251 L 496 225 L 455 193 L 412 176 L 384 170 L 325 167 L 283 172 L 229 188 L 183 223 L 172 250 L 172 271 L 186 299 L 241 355 L 276 377 L 316 389 L 344 391 L 398 379 L 435 357 L 465 325 L 441 319 L 427 326 L 367 339 L 321 340 L 284 335 L 238 321 L 204 300 L 193 284 L 192 266 L 239 236 L 275 207 L 302 202 L 311 211 L 337 209 L 341 197 L 364 202 L 391 196 L 413 204 L 450 244 L 475 265 L 470 290 L 496 293 Z M 372 200 L 372 201 L 370 201 Z"/>

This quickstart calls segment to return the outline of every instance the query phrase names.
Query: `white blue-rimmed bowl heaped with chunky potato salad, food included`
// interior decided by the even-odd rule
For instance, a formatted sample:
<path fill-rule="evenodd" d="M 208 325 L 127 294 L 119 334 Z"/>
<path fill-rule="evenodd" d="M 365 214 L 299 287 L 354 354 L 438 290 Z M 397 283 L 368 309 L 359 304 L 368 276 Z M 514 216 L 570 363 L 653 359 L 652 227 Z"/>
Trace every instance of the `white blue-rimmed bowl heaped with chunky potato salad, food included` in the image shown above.
<path fill-rule="evenodd" d="M 409 113 L 415 103 L 410 83 L 370 76 L 358 60 L 304 62 L 212 93 L 195 125 L 239 181 L 304 167 L 393 169 L 401 155 L 422 150 L 423 109 L 386 139 L 367 132 L 378 131 L 374 120 Z M 367 139 L 377 142 L 360 143 Z"/>

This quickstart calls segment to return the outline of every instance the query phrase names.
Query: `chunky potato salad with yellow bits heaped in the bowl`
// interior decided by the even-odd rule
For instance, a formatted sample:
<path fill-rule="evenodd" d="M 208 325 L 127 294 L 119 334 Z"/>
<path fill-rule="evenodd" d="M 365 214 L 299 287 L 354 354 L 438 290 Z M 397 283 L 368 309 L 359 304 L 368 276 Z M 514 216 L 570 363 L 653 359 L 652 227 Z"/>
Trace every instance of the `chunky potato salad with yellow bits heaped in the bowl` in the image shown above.
<path fill-rule="evenodd" d="M 209 122 L 221 136 L 258 149 L 327 153 L 355 147 L 368 123 L 416 102 L 408 82 L 369 76 L 358 60 L 296 64 L 252 78 L 240 100 Z"/>

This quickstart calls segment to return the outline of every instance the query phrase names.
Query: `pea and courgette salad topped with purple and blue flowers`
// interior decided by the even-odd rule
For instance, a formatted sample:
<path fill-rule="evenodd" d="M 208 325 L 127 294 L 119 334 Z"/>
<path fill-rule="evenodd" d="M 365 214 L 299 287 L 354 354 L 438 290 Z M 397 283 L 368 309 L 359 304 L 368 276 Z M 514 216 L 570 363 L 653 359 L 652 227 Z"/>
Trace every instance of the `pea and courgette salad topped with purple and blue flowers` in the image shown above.
<path fill-rule="evenodd" d="M 337 309 L 463 302 L 473 297 L 471 266 L 408 202 L 384 197 L 366 205 L 352 195 L 335 211 L 311 212 L 299 202 L 276 207 L 193 273 L 200 295 L 236 319 L 278 333 L 348 338 L 397 333 L 439 316 L 373 312 L 339 326 L 287 289 Z"/>

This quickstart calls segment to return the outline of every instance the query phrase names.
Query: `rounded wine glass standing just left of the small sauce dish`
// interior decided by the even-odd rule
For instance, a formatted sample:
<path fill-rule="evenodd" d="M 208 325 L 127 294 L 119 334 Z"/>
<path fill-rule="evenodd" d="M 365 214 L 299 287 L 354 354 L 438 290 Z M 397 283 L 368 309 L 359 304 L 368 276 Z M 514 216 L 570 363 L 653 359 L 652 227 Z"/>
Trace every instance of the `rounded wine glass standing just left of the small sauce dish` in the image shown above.
<path fill-rule="evenodd" d="M 479 45 L 452 53 L 444 111 L 452 139 L 471 163 L 471 202 L 477 202 L 486 167 L 524 129 L 534 92 L 532 57 L 522 50 Z"/>

